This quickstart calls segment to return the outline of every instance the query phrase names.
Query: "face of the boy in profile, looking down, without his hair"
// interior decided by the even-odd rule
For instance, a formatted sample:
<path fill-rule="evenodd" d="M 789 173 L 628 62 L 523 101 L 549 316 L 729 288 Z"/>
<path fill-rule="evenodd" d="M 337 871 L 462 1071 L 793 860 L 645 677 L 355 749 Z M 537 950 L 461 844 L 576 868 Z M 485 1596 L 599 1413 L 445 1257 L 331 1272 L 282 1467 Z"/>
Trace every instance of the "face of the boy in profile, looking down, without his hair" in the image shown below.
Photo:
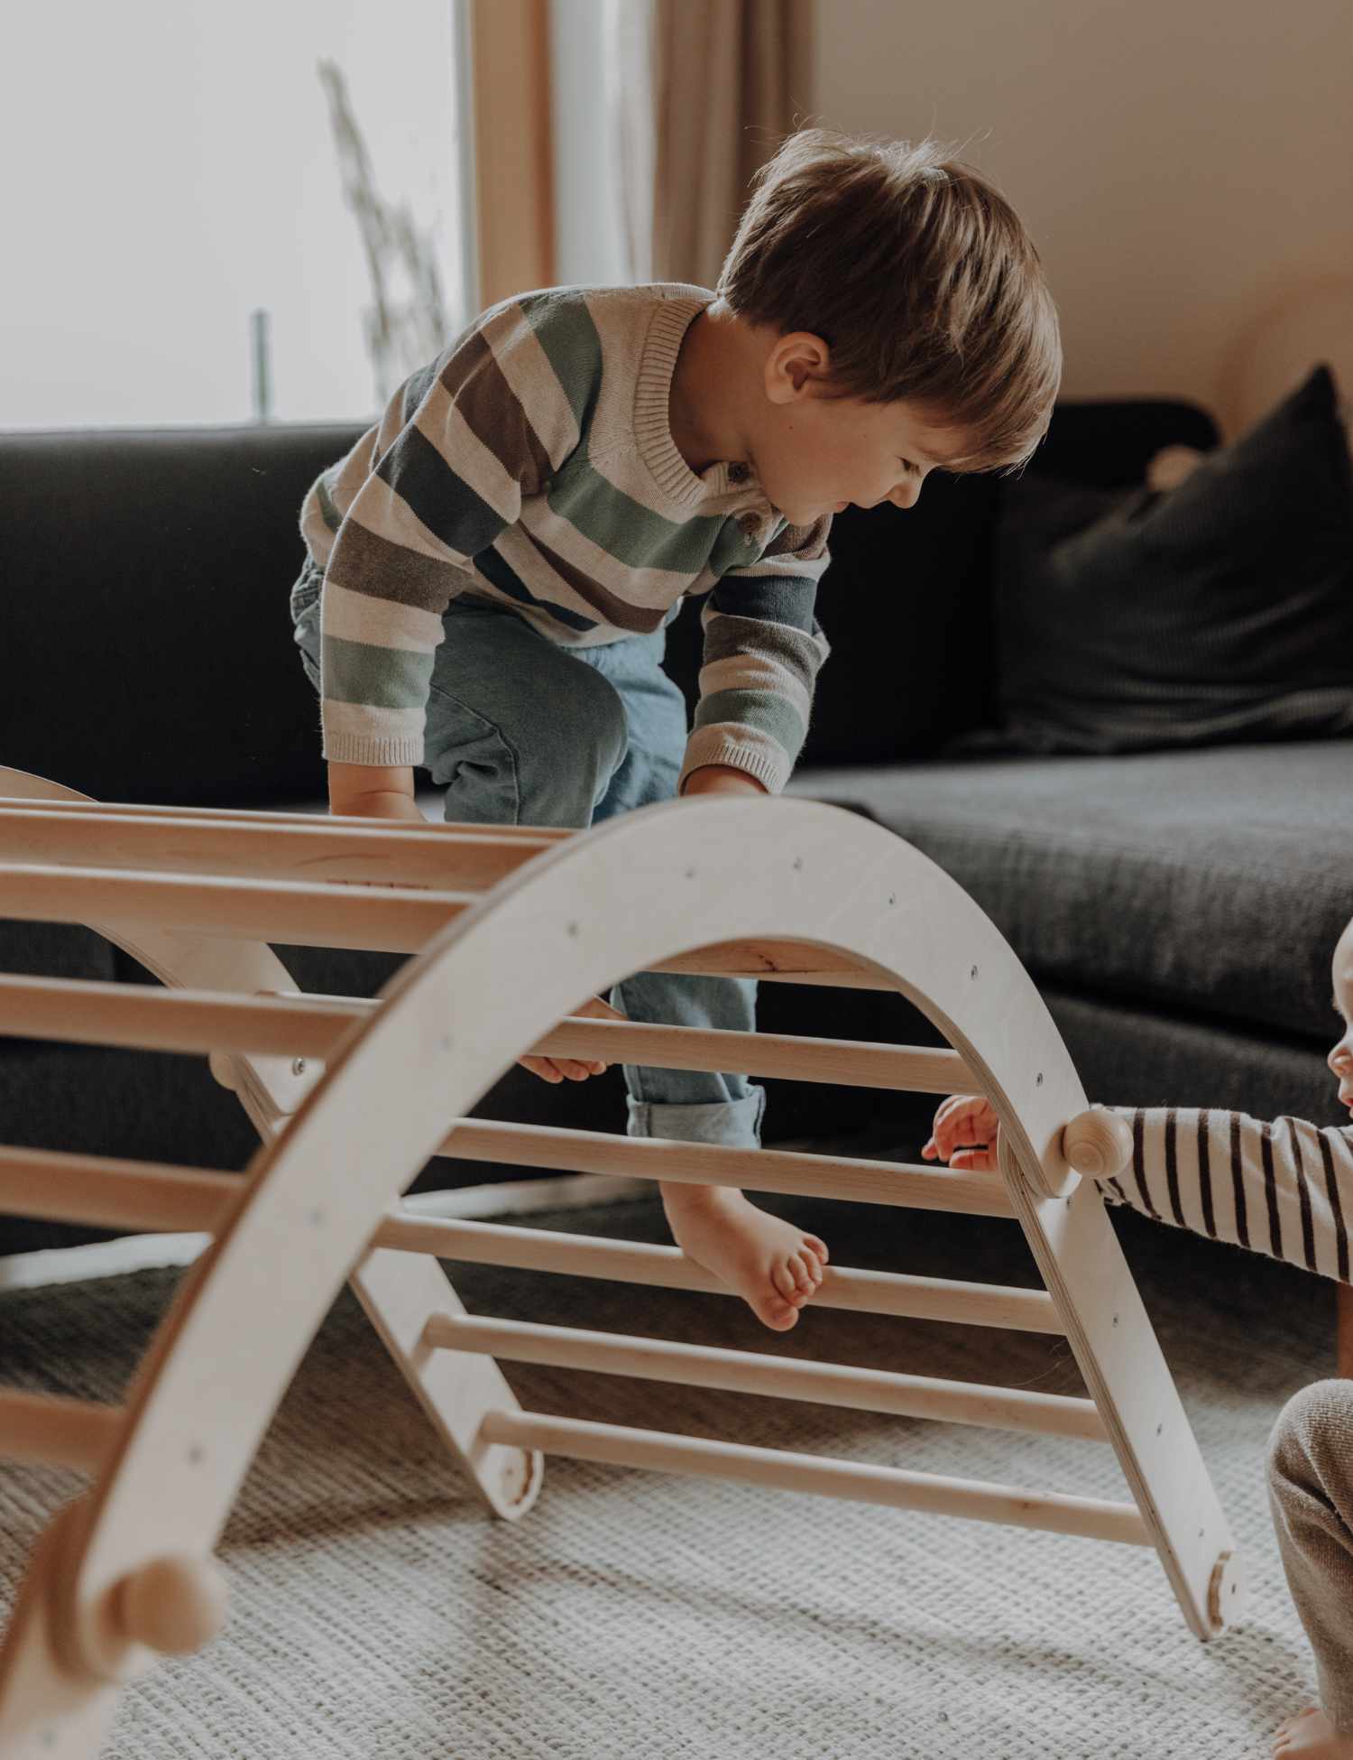
<path fill-rule="evenodd" d="M 753 463 L 762 488 L 792 526 L 846 507 L 911 507 L 936 466 L 969 449 L 913 403 L 829 398 L 815 384 L 772 403 Z"/>

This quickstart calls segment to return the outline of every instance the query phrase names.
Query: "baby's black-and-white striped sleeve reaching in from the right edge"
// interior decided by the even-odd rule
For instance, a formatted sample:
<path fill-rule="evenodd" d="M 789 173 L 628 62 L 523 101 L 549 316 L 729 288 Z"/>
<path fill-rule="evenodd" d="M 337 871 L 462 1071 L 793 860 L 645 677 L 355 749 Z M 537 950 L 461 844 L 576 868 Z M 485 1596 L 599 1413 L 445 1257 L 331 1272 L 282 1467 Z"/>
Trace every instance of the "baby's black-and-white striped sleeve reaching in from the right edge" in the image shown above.
<path fill-rule="evenodd" d="M 1349 1281 L 1353 1128 L 1196 1107 L 1110 1111 L 1131 1125 L 1133 1155 L 1103 1181 L 1108 1199 Z"/>

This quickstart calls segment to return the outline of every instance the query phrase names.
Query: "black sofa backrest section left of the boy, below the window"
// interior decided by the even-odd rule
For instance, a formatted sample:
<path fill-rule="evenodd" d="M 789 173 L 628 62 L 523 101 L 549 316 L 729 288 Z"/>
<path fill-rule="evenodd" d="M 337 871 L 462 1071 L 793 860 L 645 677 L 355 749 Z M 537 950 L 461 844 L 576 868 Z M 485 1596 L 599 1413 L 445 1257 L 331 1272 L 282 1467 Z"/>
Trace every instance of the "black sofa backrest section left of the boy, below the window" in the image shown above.
<path fill-rule="evenodd" d="M 0 435 L 0 762 L 107 801 L 322 797 L 287 595 L 359 431 Z"/>

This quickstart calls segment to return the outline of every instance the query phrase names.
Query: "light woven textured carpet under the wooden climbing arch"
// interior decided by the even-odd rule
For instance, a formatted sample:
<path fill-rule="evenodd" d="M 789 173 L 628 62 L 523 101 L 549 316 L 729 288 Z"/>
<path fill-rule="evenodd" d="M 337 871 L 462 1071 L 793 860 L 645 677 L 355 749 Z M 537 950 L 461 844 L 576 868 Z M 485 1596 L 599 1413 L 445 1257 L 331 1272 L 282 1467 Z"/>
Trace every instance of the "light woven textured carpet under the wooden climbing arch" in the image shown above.
<path fill-rule="evenodd" d="M 1033 1283 L 1013 1223 L 769 1200 L 837 1264 Z M 665 1239 L 655 1202 L 538 1218 Z M 123 1698 L 111 1760 L 1045 1760 L 1267 1755 L 1311 1697 L 1263 1489 L 1283 1399 L 1330 1373 L 1328 1285 L 1115 1218 L 1244 1547 L 1202 1646 L 1152 1552 L 554 1459 L 521 1524 L 463 1491 L 355 1302 L 325 1320 L 220 1556 L 223 1637 Z M 1080 1392 L 1064 1341 L 452 1267 L 473 1313 Z M 116 1397 L 176 1272 L 0 1299 L 0 1380 Z M 1108 1448 L 508 1364 L 528 1410 L 1123 1496 Z M 77 1489 L 0 1471 L 0 1600 Z"/>

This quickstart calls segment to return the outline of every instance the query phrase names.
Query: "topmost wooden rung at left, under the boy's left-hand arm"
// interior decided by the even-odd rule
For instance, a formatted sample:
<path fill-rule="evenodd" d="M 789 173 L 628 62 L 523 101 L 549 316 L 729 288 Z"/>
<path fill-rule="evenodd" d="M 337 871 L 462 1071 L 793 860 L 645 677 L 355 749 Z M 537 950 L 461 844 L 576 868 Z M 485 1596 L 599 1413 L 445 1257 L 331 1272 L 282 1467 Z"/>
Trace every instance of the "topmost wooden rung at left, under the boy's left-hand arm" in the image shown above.
<path fill-rule="evenodd" d="M 99 808 L 42 813 L 0 806 L 0 861 L 403 887 L 496 885 L 558 840 L 500 838 L 491 827 L 447 836 L 435 825 L 389 836 L 378 822 L 230 824 Z"/>

